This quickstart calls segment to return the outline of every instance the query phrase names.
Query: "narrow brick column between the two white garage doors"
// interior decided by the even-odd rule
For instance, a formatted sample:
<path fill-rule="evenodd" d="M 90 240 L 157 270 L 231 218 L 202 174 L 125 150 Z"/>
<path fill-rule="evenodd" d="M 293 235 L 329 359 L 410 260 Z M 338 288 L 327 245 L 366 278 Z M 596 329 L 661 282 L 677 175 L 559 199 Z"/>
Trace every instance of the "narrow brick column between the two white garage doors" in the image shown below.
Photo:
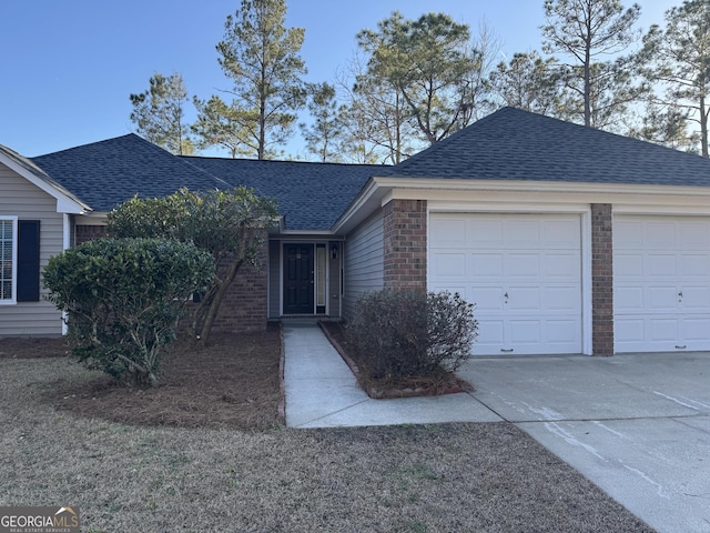
<path fill-rule="evenodd" d="M 611 204 L 591 204 L 591 353 L 613 355 Z"/>

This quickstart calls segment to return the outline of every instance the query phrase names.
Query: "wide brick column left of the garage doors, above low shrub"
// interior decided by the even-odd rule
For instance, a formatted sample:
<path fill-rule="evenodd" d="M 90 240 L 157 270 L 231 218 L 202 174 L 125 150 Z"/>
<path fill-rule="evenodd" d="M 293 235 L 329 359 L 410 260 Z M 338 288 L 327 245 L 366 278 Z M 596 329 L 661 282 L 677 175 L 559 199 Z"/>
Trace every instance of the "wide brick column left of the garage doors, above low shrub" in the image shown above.
<path fill-rule="evenodd" d="M 384 207 L 385 288 L 426 289 L 426 200 Z"/>

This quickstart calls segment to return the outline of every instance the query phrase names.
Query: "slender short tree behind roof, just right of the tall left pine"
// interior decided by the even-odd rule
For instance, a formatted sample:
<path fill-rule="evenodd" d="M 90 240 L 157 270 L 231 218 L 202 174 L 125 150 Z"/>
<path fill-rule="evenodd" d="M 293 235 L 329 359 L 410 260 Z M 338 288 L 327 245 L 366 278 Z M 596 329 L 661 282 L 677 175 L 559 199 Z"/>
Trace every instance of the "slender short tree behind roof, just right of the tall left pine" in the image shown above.
<path fill-rule="evenodd" d="M 298 124 L 306 140 L 306 149 L 318 158 L 318 161 L 339 161 L 343 122 L 338 113 L 335 87 L 329 83 L 308 84 L 308 111 L 313 123 Z"/>

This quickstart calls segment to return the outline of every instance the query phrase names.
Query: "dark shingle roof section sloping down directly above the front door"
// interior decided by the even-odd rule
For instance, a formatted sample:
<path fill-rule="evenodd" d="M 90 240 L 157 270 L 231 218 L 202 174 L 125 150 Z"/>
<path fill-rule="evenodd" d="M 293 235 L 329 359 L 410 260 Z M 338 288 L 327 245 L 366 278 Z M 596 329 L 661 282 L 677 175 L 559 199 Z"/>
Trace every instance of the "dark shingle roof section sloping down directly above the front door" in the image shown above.
<path fill-rule="evenodd" d="M 389 167 L 244 159 L 183 158 L 232 187 L 275 198 L 290 230 L 327 230 L 367 180 Z"/>

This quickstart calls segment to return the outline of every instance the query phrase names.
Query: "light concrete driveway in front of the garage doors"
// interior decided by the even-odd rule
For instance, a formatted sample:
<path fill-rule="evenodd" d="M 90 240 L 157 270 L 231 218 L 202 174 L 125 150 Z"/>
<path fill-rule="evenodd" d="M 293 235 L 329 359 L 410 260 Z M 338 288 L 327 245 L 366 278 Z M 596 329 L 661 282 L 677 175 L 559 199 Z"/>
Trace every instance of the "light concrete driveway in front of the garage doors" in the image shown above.
<path fill-rule="evenodd" d="M 471 359 L 474 398 L 660 532 L 710 532 L 710 353 Z"/>

